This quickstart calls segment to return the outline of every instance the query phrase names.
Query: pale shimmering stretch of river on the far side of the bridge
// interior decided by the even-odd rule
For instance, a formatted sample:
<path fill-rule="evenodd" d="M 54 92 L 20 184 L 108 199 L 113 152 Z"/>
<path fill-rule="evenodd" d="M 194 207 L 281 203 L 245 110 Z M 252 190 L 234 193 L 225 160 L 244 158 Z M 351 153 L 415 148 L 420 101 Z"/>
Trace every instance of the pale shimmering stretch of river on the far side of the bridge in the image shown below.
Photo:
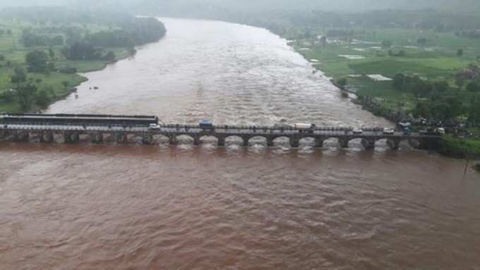
<path fill-rule="evenodd" d="M 388 125 L 268 30 L 165 19 L 167 36 L 99 72 L 49 112 L 145 113 L 167 123 Z M 95 90 L 98 87 L 98 90 Z"/>

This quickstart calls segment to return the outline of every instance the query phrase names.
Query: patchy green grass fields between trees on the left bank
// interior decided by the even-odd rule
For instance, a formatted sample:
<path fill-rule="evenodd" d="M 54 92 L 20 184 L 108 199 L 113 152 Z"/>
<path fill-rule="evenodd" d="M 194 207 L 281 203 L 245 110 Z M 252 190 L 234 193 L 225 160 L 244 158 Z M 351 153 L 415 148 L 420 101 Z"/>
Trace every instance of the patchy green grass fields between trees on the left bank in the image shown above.
<path fill-rule="evenodd" d="M 56 68 L 76 68 L 78 73 L 85 73 L 94 70 L 101 70 L 109 62 L 102 60 L 95 61 L 71 61 L 66 59 L 63 54 L 61 54 L 61 49 L 63 46 L 59 47 L 24 47 L 22 42 L 20 42 L 21 33 L 24 29 L 37 29 L 48 26 L 59 25 L 35 25 L 32 23 L 26 23 L 19 20 L 0 20 L 0 29 L 2 30 L 11 30 L 12 35 L 0 35 L 0 55 L 4 56 L 5 60 L 0 61 L 0 94 L 2 92 L 9 91 L 15 86 L 11 85 L 11 75 L 13 70 L 16 67 L 26 68 L 25 64 L 25 55 L 29 51 L 34 50 L 43 50 L 48 51 L 52 49 L 54 51 L 54 60 Z M 94 24 L 85 24 L 85 25 L 76 25 L 74 23 L 68 24 L 68 27 L 79 27 L 85 32 L 98 32 L 104 30 L 111 30 L 111 27 L 107 25 L 94 25 Z M 62 32 L 53 33 L 52 35 L 64 35 Z M 116 60 L 125 59 L 128 56 L 131 56 L 131 51 L 127 48 L 105 48 L 107 51 L 114 51 Z M 47 90 L 52 100 L 58 100 L 66 97 L 74 87 L 78 86 L 81 82 L 84 82 L 86 79 L 78 74 L 66 74 L 59 72 L 52 73 L 28 73 L 28 80 L 34 82 L 39 90 Z M 68 82 L 68 87 L 64 87 L 62 82 Z M 37 108 L 33 108 L 36 110 Z M 6 102 L 0 99 L 0 111 L 10 111 L 18 112 L 20 107 L 13 100 Z"/>

